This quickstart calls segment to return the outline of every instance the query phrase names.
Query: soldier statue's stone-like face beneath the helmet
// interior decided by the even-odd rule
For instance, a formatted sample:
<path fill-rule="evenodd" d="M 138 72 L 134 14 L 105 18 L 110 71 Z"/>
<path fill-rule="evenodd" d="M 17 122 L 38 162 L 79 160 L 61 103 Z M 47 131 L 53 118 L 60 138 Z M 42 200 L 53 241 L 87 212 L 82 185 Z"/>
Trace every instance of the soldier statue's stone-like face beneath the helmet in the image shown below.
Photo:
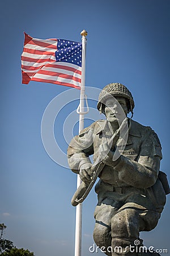
<path fill-rule="evenodd" d="M 117 101 L 114 101 L 113 97 L 109 97 L 105 101 L 105 116 L 107 117 L 109 122 L 114 122 L 119 119 L 120 113 L 120 105 L 125 112 L 125 115 L 128 114 L 128 106 L 126 104 L 126 99 L 124 97 L 114 97 Z"/>

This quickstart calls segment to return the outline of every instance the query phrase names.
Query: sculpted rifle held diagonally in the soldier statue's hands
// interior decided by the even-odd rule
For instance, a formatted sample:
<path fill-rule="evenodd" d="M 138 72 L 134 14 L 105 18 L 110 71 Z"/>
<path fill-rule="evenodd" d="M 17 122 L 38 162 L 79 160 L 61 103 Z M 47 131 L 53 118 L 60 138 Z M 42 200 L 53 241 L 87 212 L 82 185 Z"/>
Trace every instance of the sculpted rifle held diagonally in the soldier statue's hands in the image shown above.
<path fill-rule="evenodd" d="M 121 123 L 120 127 L 116 130 L 116 132 L 113 134 L 111 139 L 109 139 L 108 144 L 111 146 L 111 150 L 113 150 L 114 146 L 116 145 L 118 139 L 119 139 L 119 134 L 121 129 L 124 128 L 124 125 L 126 124 L 127 120 L 126 118 L 124 121 Z M 100 172 L 103 170 L 105 164 L 100 160 L 100 155 L 97 157 L 95 163 L 92 165 L 91 170 L 94 173 L 93 176 L 91 177 L 91 181 L 89 183 L 85 183 L 82 181 L 82 183 L 79 185 L 78 189 L 75 191 L 72 199 L 71 199 L 71 204 L 75 207 L 76 205 L 82 203 L 84 199 L 88 196 L 90 193 L 93 185 L 95 184 L 95 181 L 97 177 L 99 176 Z"/>

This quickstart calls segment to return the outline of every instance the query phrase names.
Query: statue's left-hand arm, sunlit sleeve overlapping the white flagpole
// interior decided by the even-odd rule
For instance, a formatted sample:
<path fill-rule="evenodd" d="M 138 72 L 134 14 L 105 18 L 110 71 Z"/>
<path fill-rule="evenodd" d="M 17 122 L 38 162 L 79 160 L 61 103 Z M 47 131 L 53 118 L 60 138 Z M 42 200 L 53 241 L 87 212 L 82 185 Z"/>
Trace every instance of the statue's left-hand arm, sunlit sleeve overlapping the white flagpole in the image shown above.
<path fill-rule="evenodd" d="M 94 123 L 75 136 L 67 149 L 67 159 L 70 169 L 79 174 L 83 164 L 91 163 L 90 155 L 94 154 Z"/>

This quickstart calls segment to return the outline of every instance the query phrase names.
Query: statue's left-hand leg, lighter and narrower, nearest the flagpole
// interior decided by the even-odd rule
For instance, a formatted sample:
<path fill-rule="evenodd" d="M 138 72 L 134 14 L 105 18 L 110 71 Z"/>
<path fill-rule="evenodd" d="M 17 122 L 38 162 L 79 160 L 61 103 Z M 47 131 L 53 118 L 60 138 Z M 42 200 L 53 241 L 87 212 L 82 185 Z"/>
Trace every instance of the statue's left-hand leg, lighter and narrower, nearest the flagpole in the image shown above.
<path fill-rule="evenodd" d="M 116 212 L 117 209 L 111 205 L 101 204 L 96 206 L 94 214 L 96 219 L 94 241 L 100 248 L 104 246 L 103 251 L 108 256 L 112 255 L 111 219 Z"/>

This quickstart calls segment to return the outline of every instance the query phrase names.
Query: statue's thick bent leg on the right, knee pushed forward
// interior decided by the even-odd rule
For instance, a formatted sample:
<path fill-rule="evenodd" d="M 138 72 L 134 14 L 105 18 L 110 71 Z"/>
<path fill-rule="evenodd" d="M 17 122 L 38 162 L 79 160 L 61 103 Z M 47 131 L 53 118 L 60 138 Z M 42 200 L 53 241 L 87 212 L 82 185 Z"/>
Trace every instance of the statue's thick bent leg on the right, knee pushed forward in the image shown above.
<path fill-rule="evenodd" d="M 137 205 L 135 205 L 135 207 L 137 207 Z M 134 241 L 140 241 L 139 232 L 154 229 L 158 224 L 159 217 L 160 213 L 155 210 L 132 209 L 128 208 L 128 205 L 126 208 L 125 204 L 111 220 L 112 256 L 148 255 L 147 253 L 140 254 L 139 248 L 135 247 L 137 243 L 134 245 Z"/>

